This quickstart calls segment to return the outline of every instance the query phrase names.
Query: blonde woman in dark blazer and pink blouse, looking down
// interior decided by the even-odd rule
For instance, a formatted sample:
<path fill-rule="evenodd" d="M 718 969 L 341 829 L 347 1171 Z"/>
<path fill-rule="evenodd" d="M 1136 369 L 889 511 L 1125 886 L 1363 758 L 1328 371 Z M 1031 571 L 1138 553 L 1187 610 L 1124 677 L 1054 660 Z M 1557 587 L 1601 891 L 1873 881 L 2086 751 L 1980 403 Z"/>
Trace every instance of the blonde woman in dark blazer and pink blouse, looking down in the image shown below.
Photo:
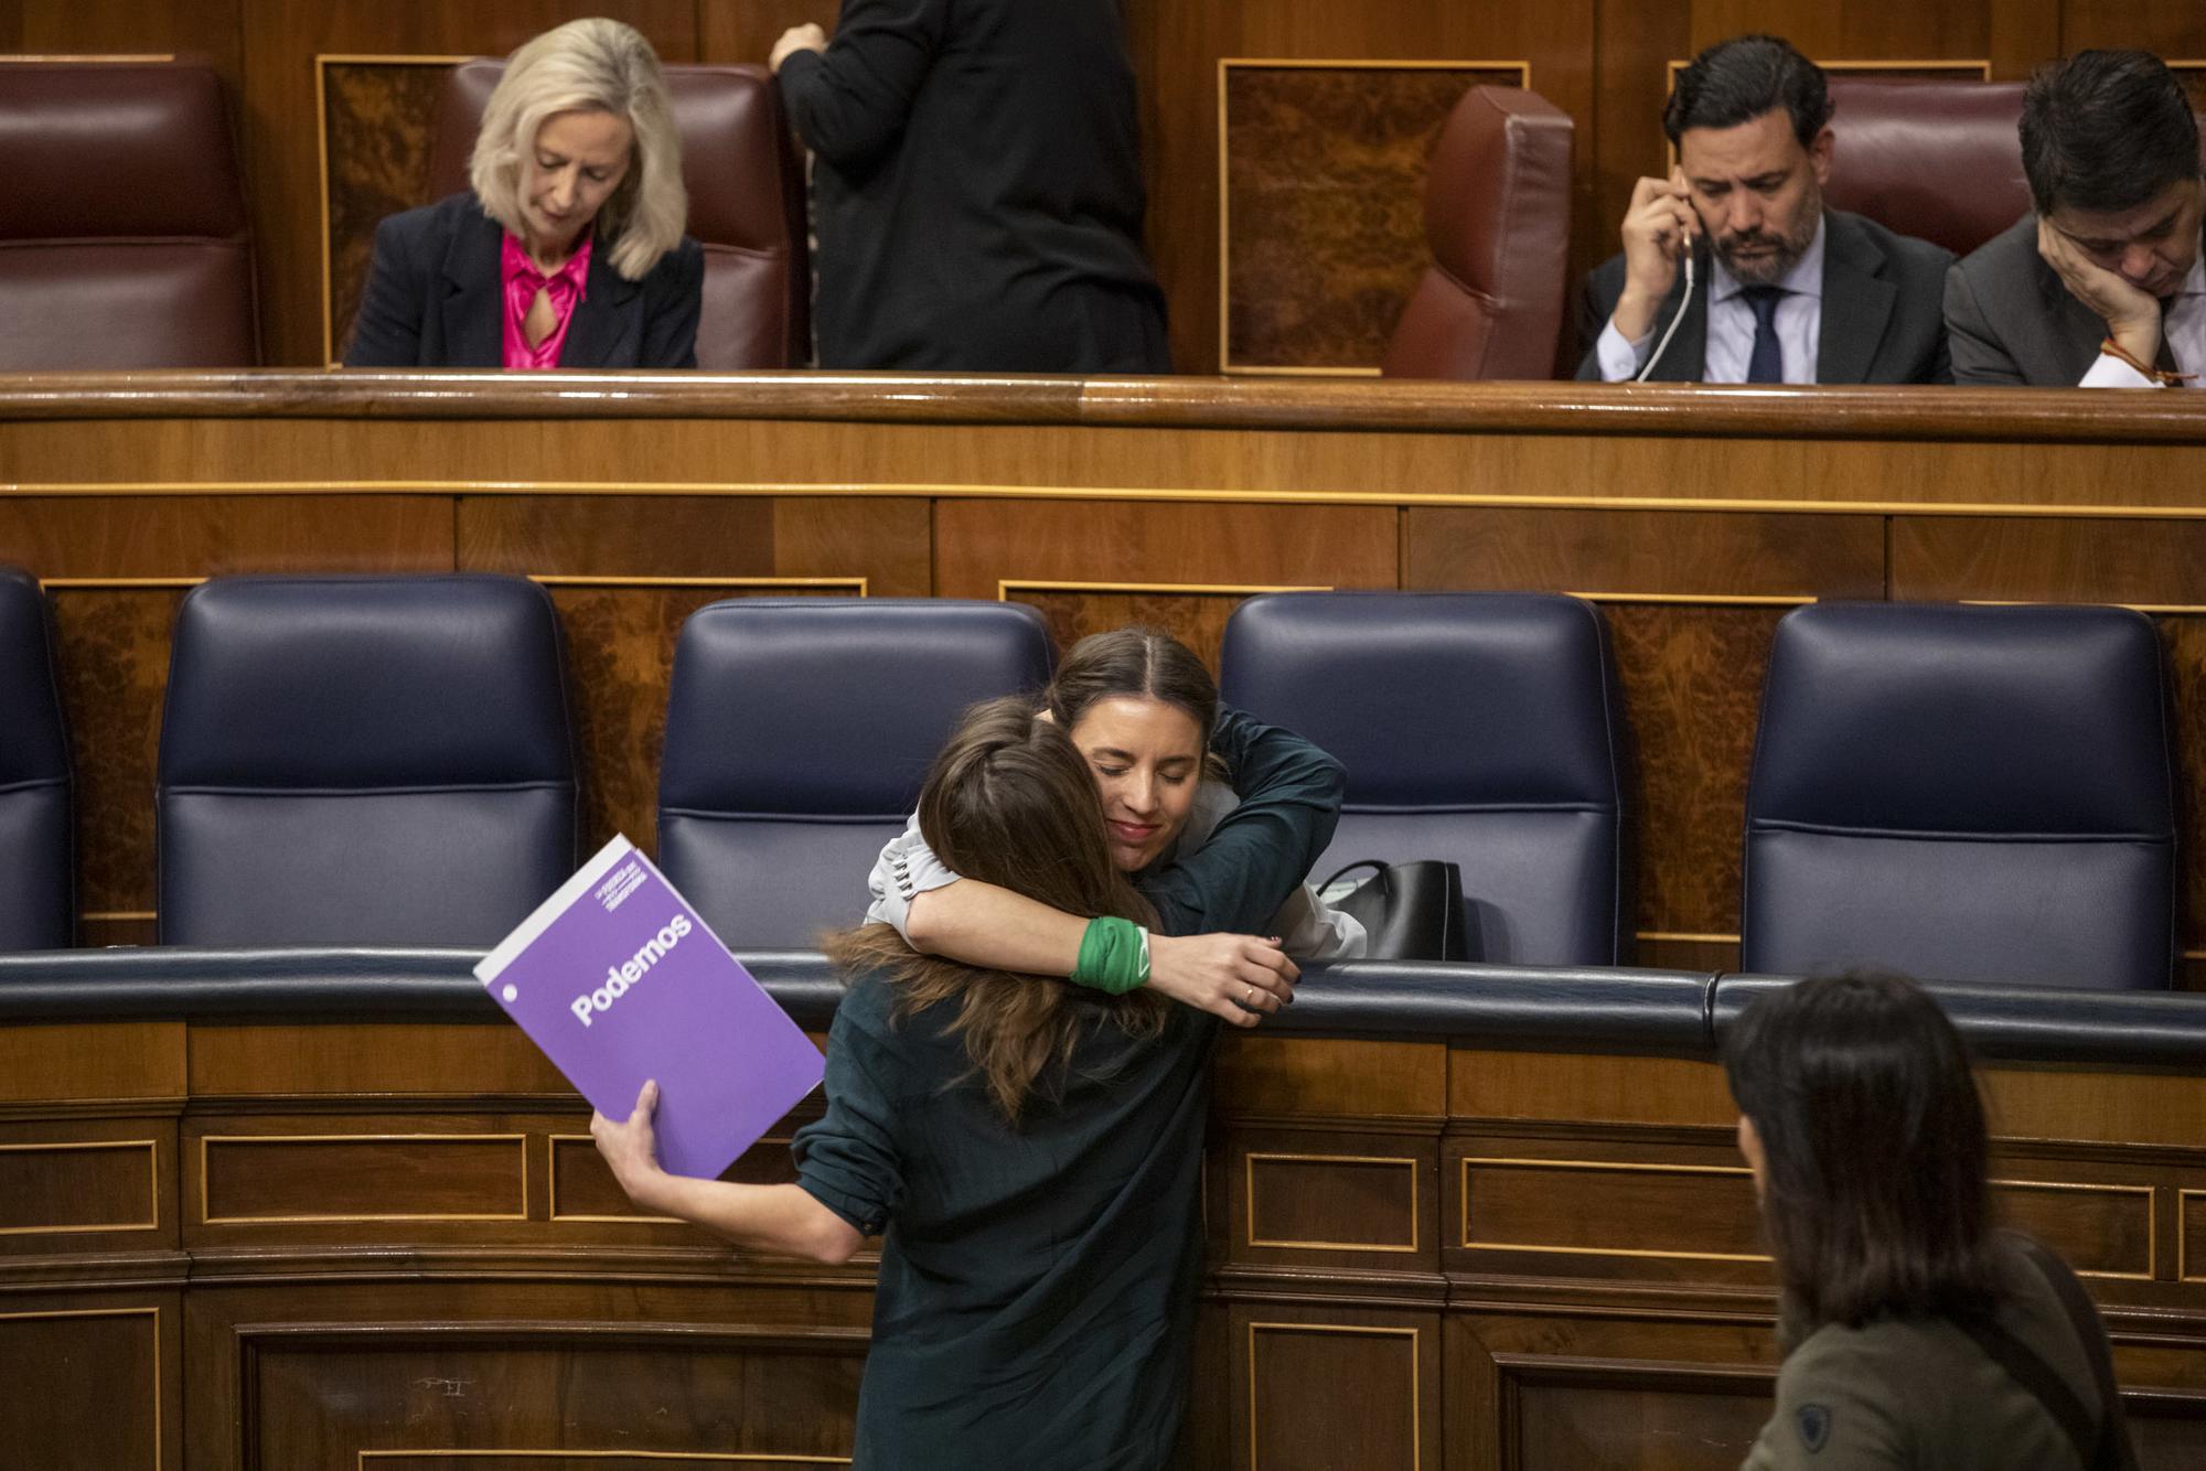
<path fill-rule="evenodd" d="M 349 368 L 695 368 L 704 251 L 682 137 L 633 26 L 521 46 L 483 108 L 470 190 L 386 218 Z"/>

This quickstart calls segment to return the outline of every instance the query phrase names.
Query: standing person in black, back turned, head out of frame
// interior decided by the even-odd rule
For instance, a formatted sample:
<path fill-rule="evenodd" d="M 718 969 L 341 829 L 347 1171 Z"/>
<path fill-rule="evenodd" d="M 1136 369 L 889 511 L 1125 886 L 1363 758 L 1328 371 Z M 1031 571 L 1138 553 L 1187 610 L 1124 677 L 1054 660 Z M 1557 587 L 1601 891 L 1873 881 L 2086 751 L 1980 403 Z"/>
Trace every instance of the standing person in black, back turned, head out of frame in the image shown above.
<path fill-rule="evenodd" d="M 818 366 L 1169 373 L 1123 0 L 843 0 L 772 51 Z"/>

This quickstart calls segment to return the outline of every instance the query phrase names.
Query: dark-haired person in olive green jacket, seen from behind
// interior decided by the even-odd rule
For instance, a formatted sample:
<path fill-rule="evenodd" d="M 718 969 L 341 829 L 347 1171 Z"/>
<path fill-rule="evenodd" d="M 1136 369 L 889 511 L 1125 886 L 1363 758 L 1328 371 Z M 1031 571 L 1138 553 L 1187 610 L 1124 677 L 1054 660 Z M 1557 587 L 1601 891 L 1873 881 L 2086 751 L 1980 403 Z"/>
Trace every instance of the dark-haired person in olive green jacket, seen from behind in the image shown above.
<path fill-rule="evenodd" d="M 1769 992 L 1723 1056 L 1785 1347 L 1747 1471 L 2135 1467 L 2089 1297 L 1994 1228 L 1968 1054 L 1919 986 Z"/>

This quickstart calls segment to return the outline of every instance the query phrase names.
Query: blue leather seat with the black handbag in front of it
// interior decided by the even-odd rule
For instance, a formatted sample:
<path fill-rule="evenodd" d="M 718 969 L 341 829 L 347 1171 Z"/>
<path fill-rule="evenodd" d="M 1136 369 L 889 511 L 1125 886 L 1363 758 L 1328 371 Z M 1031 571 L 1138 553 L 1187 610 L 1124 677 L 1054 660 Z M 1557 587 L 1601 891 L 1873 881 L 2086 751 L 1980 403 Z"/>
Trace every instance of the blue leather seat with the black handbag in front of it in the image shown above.
<path fill-rule="evenodd" d="M 1626 959 L 1624 701 L 1591 604 L 1275 593 L 1233 611 L 1220 666 L 1227 704 L 1348 767 L 1317 878 L 1445 858 L 1463 869 L 1471 959 Z"/>

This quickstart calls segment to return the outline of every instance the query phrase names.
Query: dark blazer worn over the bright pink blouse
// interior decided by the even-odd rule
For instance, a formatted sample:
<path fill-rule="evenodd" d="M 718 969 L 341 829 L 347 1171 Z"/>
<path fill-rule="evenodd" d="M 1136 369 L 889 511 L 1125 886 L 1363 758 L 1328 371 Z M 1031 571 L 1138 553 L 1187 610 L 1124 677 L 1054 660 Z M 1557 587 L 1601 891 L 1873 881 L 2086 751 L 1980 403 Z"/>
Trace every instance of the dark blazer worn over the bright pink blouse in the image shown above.
<path fill-rule="evenodd" d="M 505 227 L 472 192 L 393 214 L 375 227 L 346 368 L 503 368 Z M 589 254 L 589 280 L 560 346 L 563 368 L 695 368 L 704 249 L 682 236 L 642 280 Z"/>

